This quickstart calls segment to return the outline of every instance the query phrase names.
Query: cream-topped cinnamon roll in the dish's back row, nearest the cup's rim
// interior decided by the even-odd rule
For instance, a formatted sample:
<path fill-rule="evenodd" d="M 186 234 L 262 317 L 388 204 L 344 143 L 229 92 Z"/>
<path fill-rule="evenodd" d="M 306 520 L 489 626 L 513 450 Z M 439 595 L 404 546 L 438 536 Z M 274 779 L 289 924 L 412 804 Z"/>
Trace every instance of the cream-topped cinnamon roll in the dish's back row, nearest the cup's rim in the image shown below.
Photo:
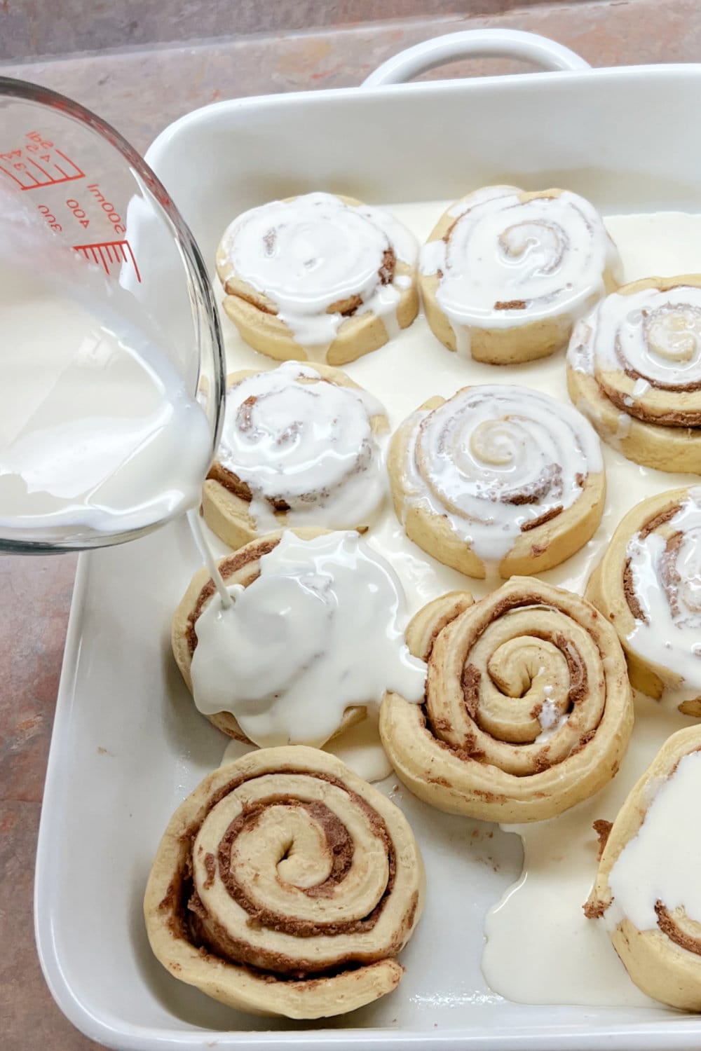
<path fill-rule="evenodd" d="M 255 350 L 343 365 L 411 325 L 416 254 L 413 234 L 382 208 L 307 193 L 239 215 L 217 271 L 224 309 Z"/>

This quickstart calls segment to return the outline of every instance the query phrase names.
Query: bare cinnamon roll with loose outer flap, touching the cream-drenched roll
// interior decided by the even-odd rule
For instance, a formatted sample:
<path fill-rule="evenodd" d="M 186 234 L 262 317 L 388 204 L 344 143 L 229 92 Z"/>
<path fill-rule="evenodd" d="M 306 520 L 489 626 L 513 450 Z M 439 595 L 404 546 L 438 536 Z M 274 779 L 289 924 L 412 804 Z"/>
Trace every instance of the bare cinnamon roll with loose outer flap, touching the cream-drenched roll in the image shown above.
<path fill-rule="evenodd" d="M 486 821 L 552 818 L 618 770 L 633 728 L 613 627 L 570 592 L 513 577 L 472 602 L 454 592 L 410 623 L 428 661 L 422 707 L 383 701 L 395 771 L 426 803 Z"/>

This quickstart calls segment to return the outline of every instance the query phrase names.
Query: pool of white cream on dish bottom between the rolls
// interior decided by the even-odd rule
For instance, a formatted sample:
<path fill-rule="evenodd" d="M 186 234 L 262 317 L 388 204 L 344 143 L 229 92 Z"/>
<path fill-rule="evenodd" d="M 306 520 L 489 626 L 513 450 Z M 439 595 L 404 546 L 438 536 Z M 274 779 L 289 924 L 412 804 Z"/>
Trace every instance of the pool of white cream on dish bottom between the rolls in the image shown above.
<path fill-rule="evenodd" d="M 424 241 L 447 205 L 433 202 L 387 207 Z M 658 212 L 604 219 L 621 253 L 625 281 L 701 271 L 701 214 Z M 221 301 L 221 287 L 215 292 Z M 246 346 L 223 311 L 222 314 L 229 370 L 274 367 L 274 362 Z M 517 384 L 565 403 L 570 400 L 563 352 L 522 366 L 480 365 L 442 347 L 422 316 L 387 346 L 345 366 L 345 371 L 384 403 L 392 429 L 430 396 L 449 397 L 471 384 Z M 579 593 L 626 511 L 646 496 L 689 485 L 688 475 L 639 467 L 609 446 L 603 447 L 603 453 L 607 492 L 601 526 L 573 558 L 540 574 L 550 583 Z M 228 551 L 213 535 L 211 539 L 218 553 L 223 555 Z M 441 565 L 408 540 L 389 496 L 367 539 L 398 573 L 410 614 L 447 591 L 470 591 L 480 598 L 490 590 L 484 581 L 472 580 Z M 638 721 L 633 741 L 612 785 L 569 813 L 518 829 L 524 847 L 523 872 L 488 918 L 489 942 L 483 957 L 488 983 L 509 1000 L 533 1004 L 653 1005 L 628 980 L 603 925 L 585 920 L 581 909 L 596 870 L 597 842 L 592 822 L 597 818 L 612 820 L 668 735 L 693 721 L 662 712 L 642 696 L 636 699 L 636 705 Z M 328 747 L 366 778 L 379 780 L 388 772 L 372 726 L 363 730 L 353 727 Z M 227 748 L 227 759 L 235 758 L 242 750 L 246 750 L 245 746 L 232 742 Z M 528 968 L 520 966 L 520 959 L 513 952 L 514 944 L 521 939 L 529 944 Z"/>

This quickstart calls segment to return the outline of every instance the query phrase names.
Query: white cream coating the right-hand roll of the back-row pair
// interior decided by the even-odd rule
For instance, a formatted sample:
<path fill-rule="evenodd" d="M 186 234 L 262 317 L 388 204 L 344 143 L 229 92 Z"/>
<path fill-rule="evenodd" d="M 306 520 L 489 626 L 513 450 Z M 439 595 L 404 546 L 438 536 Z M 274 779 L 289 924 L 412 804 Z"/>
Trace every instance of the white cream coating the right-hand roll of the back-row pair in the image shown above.
<path fill-rule="evenodd" d="M 451 209 L 448 241 L 421 249 L 421 273 L 440 271 L 436 301 L 456 336 L 466 326 L 575 320 L 603 295 L 604 271 L 619 271 L 616 247 L 589 201 L 564 191 L 520 203 L 519 193 L 513 186 L 478 190 Z M 524 308 L 496 306 L 521 301 Z"/>

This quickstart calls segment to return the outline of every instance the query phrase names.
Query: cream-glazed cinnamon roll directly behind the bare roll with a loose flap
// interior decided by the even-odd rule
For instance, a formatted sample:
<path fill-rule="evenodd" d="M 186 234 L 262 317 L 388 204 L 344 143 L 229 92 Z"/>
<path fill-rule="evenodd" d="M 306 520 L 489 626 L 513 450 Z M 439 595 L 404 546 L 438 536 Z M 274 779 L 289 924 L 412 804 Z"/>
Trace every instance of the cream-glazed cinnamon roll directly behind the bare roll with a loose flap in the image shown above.
<path fill-rule="evenodd" d="M 471 577 L 538 573 L 599 524 L 599 440 L 570 406 L 522 387 L 466 387 L 401 424 L 389 454 L 407 536 Z"/>

